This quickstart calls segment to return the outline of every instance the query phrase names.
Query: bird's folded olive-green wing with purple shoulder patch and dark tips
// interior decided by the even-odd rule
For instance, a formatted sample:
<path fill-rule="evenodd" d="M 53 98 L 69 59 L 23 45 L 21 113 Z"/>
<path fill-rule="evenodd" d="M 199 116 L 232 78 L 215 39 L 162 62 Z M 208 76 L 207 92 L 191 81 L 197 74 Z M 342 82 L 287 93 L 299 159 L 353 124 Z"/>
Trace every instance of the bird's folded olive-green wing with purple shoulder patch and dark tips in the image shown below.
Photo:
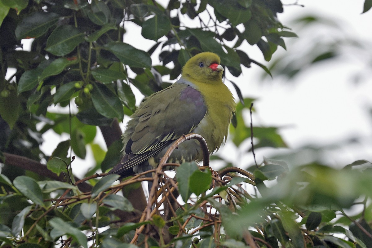
<path fill-rule="evenodd" d="M 123 174 L 192 132 L 206 111 L 201 93 L 182 79 L 151 95 L 129 121 L 125 155 L 110 173 Z"/>

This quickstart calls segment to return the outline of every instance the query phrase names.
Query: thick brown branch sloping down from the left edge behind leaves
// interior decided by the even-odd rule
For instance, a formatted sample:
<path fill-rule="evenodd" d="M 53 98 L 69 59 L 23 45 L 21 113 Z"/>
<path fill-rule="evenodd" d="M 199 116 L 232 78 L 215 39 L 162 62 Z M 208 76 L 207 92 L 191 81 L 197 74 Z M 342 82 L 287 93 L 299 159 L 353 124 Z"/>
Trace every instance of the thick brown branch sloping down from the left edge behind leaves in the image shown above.
<path fill-rule="evenodd" d="M 22 157 L 19 155 L 15 154 L 10 154 L 10 153 L 3 153 L 5 156 L 5 164 L 8 165 L 13 165 L 25 170 L 29 170 L 32 172 L 35 172 L 38 175 L 44 176 L 44 177 L 49 177 L 53 180 L 61 181 L 61 182 L 66 182 L 66 178 L 64 177 L 63 174 L 60 174 L 59 176 L 52 171 L 48 170 L 48 168 L 44 165 L 41 164 L 38 161 Z M 75 181 L 80 180 L 79 178 L 75 177 Z M 89 192 L 92 190 L 92 186 L 87 184 L 87 183 L 81 183 L 77 186 L 79 190 L 83 192 Z"/>

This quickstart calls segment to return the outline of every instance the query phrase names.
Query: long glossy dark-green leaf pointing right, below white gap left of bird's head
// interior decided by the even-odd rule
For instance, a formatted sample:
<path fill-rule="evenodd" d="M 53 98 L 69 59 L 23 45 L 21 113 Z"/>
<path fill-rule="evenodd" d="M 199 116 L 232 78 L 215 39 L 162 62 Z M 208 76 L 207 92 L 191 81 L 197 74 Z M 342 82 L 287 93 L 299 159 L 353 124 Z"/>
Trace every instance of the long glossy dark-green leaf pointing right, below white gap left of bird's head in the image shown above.
<path fill-rule="evenodd" d="M 104 49 L 112 52 L 118 59 L 130 67 L 151 67 L 150 55 L 123 42 L 109 42 Z"/>

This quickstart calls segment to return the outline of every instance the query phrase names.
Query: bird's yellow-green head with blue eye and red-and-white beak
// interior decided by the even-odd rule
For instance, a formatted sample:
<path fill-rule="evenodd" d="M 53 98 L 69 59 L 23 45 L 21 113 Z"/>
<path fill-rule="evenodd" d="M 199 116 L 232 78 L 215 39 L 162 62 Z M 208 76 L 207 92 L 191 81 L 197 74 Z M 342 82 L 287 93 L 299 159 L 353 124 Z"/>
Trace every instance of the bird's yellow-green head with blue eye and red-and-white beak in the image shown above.
<path fill-rule="evenodd" d="M 182 68 L 182 76 L 191 81 L 220 83 L 224 68 L 221 59 L 213 52 L 202 52 L 190 58 Z"/>

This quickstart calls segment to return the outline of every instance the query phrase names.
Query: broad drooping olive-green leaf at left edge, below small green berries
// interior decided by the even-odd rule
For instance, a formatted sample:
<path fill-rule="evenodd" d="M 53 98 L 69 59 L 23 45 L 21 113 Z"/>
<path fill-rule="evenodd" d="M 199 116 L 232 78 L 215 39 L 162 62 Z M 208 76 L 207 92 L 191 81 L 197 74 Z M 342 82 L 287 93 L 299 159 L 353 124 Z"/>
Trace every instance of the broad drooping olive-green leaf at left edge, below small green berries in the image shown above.
<path fill-rule="evenodd" d="M 10 129 L 13 129 L 21 110 L 22 107 L 16 90 L 10 90 L 10 94 L 7 97 L 0 96 L 0 116 L 8 123 Z"/>

